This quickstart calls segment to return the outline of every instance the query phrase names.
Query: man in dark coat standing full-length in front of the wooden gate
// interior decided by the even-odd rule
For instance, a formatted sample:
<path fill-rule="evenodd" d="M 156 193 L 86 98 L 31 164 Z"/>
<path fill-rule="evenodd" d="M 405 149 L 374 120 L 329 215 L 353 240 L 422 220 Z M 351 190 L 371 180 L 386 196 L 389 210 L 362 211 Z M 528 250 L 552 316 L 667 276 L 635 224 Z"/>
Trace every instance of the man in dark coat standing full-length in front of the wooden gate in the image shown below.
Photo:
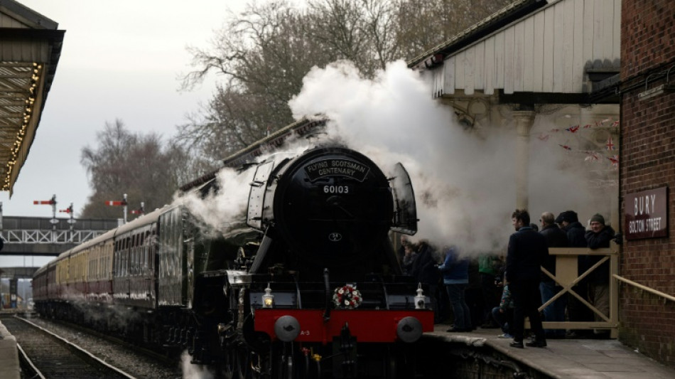
<path fill-rule="evenodd" d="M 526 345 L 543 348 L 546 336 L 538 309 L 541 306 L 539 282 L 541 265 L 549 255 L 549 247 L 546 238 L 530 228 L 527 210 L 517 209 L 511 219 L 516 233 L 509 237 L 506 265 L 506 279 L 514 302 L 510 346 L 523 348 L 525 317 L 528 316 L 534 340 Z"/>

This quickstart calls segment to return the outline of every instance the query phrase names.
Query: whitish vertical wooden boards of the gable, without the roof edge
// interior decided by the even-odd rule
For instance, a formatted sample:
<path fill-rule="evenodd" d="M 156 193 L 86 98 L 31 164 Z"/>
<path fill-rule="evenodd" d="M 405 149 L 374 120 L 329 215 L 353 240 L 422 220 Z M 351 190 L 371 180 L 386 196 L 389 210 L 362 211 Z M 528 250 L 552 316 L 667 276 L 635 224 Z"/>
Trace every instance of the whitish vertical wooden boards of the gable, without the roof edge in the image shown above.
<path fill-rule="evenodd" d="M 587 67 L 620 64 L 621 0 L 561 0 L 445 58 L 433 96 L 583 92 Z"/>

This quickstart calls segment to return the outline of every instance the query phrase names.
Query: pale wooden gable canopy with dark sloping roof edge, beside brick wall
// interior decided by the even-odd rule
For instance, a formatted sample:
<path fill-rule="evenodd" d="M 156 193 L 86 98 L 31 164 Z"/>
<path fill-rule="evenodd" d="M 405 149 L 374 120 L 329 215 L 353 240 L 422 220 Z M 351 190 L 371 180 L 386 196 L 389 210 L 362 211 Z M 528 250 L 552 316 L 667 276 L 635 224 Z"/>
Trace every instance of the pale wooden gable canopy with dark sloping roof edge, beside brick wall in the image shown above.
<path fill-rule="evenodd" d="M 619 79 L 620 22 L 621 0 L 515 0 L 409 67 L 430 76 L 433 97 L 617 104 L 597 93 Z"/>

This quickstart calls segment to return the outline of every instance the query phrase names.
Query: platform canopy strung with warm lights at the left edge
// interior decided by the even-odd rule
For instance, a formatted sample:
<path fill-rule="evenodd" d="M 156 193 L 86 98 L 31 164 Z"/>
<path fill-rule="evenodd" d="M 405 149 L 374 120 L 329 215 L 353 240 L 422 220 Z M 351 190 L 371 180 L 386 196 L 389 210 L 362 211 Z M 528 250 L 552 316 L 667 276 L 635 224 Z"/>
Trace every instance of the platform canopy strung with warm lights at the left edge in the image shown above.
<path fill-rule="evenodd" d="M 58 23 L 0 0 L 0 191 L 13 192 L 61 54 Z"/>

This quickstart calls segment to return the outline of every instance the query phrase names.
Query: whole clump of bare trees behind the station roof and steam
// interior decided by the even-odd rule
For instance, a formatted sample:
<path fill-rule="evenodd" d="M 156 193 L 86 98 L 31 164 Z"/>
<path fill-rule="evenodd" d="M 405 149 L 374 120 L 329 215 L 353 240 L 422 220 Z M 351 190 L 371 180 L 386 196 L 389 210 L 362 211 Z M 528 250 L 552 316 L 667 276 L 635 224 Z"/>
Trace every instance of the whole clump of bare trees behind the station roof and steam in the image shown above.
<path fill-rule="evenodd" d="M 179 127 L 176 144 L 206 165 L 293 122 L 288 100 L 313 66 L 352 60 L 365 78 L 411 58 L 497 11 L 509 0 L 285 0 L 249 4 L 232 15 L 207 49 L 190 48 L 197 70 L 225 77 L 199 116 Z"/>

